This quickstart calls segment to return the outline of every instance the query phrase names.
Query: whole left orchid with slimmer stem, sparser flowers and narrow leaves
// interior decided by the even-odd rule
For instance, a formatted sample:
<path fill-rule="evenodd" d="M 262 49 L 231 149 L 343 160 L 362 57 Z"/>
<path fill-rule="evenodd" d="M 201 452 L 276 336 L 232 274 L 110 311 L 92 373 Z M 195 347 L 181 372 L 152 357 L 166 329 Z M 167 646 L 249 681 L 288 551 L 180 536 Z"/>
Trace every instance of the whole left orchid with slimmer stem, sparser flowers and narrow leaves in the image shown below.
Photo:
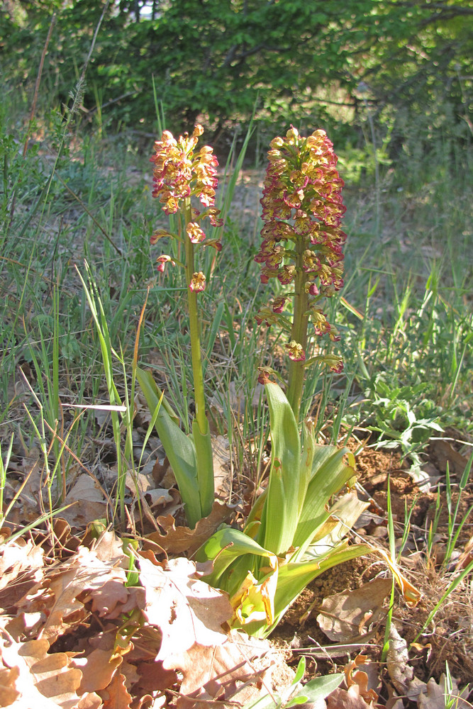
<path fill-rule="evenodd" d="M 182 267 L 185 272 L 196 412 L 190 436 L 179 428 L 177 415 L 162 396 L 150 372 L 137 370 L 137 379 L 148 406 L 156 413 L 155 428 L 174 471 L 187 521 L 193 527 L 211 513 L 214 499 L 212 446 L 206 416 L 198 305 L 199 293 L 206 287 L 206 277 L 203 272 L 195 270 L 194 252 L 202 246 L 211 246 L 220 251 L 220 240 L 206 239 L 202 223 L 208 219 L 214 227 L 222 225 L 219 211 L 215 207 L 218 160 L 208 145 L 196 152 L 202 133 L 204 129 L 199 124 L 192 135 L 185 133 L 178 140 L 169 130 L 163 131 L 161 140 L 155 143 L 155 154 L 150 160 L 154 164 L 152 196 L 160 200 L 162 210 L 167 215 L 177 215 L 177 231 L 156 230 L 151 243 L 155 244 L 164 237 L 176 239 L 182 246 L 180 251 L 184 253 L 183 261 L 167 254 L 160 255 L 157 257 L 157 270 L 163 272 L 165 265 L 170 264 Z M 192 198 L 204 206 L 202 211 L 193 205 Z"/>

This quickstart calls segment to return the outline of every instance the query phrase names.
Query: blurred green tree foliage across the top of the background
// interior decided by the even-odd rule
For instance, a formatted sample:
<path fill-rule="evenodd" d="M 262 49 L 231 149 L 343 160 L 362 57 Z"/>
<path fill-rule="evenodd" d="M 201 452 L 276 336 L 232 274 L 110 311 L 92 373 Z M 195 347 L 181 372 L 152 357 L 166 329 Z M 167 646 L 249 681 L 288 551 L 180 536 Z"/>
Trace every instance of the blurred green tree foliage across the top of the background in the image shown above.
<path fill-rule="evenodd" d="M 56 13 L 41 94 L 52 106 L 67 104 L 104 6 L 6 0 L 0 36 L 9 87 L 33 89 Z M 293 122 L 356 146 L 364 142 L 357 118 L 369 106 L 394 157 L 413 121 L 417 150 L 428 150 L 439 130 L 471 139 L 472 56 L 465 0 L 112 0 L 82 111 L 112 130 L 155 131 L 154 82 L 175 132 L 199 118 L 216 143 L 247 123 L 256 102 L 262 143 Z"/>

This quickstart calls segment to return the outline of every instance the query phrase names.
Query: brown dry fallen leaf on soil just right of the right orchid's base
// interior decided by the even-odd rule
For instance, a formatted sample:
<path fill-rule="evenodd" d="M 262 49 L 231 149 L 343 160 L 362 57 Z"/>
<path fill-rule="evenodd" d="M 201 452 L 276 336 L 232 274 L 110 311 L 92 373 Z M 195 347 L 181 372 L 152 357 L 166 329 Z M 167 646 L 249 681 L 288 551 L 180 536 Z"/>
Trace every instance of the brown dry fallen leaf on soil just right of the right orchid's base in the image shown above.
<path fill-rule="evenodd" d="M 373 579 L 353 591 L 327 596 L 320 606 L 318 625 L 335 642 L 361 640 L 368 633 L 366 623 L 371 626 L 384 615 L 382 604 L 391 587 L 389 579 Z"/>

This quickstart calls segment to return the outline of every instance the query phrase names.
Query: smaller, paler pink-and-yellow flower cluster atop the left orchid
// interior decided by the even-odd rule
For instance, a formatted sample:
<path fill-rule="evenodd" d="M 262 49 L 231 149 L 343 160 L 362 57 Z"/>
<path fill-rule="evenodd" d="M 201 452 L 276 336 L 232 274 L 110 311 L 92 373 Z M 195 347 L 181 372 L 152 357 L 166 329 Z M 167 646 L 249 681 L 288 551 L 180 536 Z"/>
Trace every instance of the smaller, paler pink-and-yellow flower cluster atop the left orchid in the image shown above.
<path fill-rule="evenodd" d="M 220 211 L 215 207 L 218 160 L 208 145 L 194 152 L 202 133 L 204 128 L 198 124 L 190 137 L 184 133 L 176 140 L 169 130 L 164 130 L 161 140 L 155 142 L 155 155 L 150 158 L 150 162 L 154 163 L 152 196 L 160 200 L 166 214 L 175 214 L 177 211 L 185 214 L 187 223 L 184 230 L 193 244 L 200 244 L 206 238 L 200 225 L 201 220 L 208 218 L 212 226 L 221 226 L 223 223 L 219 217 Z M 189 200 L 193 196 L 204 205 L 204 211 L 190 206 Z M 165 236 L 176 235 L 158 229 L 150 242 L 155 244 Z M 219 240 L 208 240 L 206 245 L 221 250 Z M 158 270 L 164 269 L 165 261 L 162 257 L 158 259 L 158 264 Z M 204 290 L 205 280 L 200 279 L 199 283 L 193 280 L 189 287 L 191 290 Z"/>

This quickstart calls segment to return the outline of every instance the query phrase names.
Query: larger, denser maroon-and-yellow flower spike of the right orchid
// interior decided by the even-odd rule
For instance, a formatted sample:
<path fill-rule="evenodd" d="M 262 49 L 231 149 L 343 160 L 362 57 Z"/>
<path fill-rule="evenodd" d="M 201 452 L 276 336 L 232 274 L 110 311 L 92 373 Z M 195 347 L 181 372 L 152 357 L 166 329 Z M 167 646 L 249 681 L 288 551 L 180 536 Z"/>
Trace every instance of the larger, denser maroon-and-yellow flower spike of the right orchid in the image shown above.
<path fill-rule="evenodd" d="M 316 307 L 321 298 L 343 286 L 346 234 L 340 224 L 345 206 L 337 156 L 323 130 L 303 138 L 291 126 L 286 136 L 274 138 L 270 147 L 261 200 L 262 243 L 255 257 L 261 265 L 261 281 L 276 278 L 283 286 L 292 284 L 293 289 L 303 289 L 313 333 L 338 340 L 337 331 Z M 294 296 L 294 291 L 275 298 L 275 316 L 282 313 L 288 296 Z M 260 321 L 270 324 L 267 308 L 260 315 Z M 286 350 L 291 359 L 301 361 L 305 352 L 296 345 L 293 340 Z"/>

